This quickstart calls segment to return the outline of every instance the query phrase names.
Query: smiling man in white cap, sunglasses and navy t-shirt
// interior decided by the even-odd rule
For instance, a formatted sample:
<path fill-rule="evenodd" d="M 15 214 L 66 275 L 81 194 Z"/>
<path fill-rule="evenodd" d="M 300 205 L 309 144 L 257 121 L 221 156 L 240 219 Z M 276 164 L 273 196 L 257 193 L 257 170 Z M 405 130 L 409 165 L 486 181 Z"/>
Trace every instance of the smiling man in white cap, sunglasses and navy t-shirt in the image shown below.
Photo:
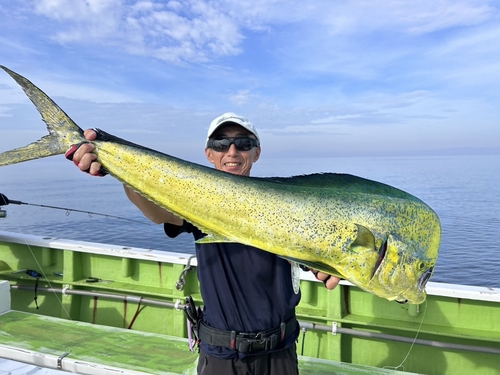
<path fill-rule="evenodd" d="M 93 140 L 96 133 L 87 130 L 85 137 Z M 101 166 L 93 149 L 83 144 L 68 153 L 81 170 L 98 176 Z M 228 112 L 210 124 L 205 155 L 216 169 L 250 176 L 260 153 L 259 135 L 247 118 Z M 163 224 L 169 237 L 182 232 L 195 240 L 205 236 L 137 192 L 125 187 L 125 193 L 147 218 Z M 293 291 L 290 263 L 238 243 L 196 244 L 196 256 L 204 302 L 198 374 L 298 374 L 295 307 L 300 292 Z M 315 276 L 328 289 L 339 281 L 323 273 Z"/>

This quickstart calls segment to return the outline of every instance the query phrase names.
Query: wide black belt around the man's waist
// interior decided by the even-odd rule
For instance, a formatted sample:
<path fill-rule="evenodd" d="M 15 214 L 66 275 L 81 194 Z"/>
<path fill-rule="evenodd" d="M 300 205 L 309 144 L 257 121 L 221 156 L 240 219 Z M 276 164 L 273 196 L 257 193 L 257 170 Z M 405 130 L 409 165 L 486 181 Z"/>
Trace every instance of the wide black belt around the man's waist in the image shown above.
<path fill-rule="evenodd" d="M 278 328 L 257 333 L 222 331 L 200 321 L 198 335 L 200 341 L 210 345 L 236 349 L 240 352 L 255 352 L 274 349 L 285 337 L 294 333 L 296 329 L 297 319 L 295 317 L 286 323 L 281 323 Z"/>

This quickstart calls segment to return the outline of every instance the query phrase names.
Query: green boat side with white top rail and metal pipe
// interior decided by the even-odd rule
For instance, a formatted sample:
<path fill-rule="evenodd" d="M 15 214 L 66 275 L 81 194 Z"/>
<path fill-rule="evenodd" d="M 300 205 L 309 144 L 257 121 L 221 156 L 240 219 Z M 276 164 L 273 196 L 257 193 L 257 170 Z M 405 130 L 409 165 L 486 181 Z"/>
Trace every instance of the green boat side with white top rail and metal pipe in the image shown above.
<path fill-rule="evenodd" d="M 187 329 L 176 308 L 188 295 L 203 304 L 190 257 L 0 231 L 0 279 L 12 285 L 14 310 L 120 328 L 133 322 L 133 330 L 179 338 Z M 38 310 L 35 279 L 15 273 L 24 269 L 44 275 Z M 500 374 L 497 289 L 430 282 L 426 302 L 400 305 L 347 282 L 328 291 L 304 273 L 301 290 L 300 355 L 422 374 Z"/>

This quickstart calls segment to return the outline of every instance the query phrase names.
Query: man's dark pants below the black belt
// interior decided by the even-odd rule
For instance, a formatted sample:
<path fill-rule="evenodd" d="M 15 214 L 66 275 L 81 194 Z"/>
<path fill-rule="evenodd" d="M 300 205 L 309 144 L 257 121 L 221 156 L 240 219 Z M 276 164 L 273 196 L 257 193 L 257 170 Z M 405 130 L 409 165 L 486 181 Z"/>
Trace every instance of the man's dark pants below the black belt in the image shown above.
<path fill-rule="evenodd" d="M 285 350 L 243 359 L 219 359 L 200 349 L 198 375 L 298 375 L 295 344 Z"/>

